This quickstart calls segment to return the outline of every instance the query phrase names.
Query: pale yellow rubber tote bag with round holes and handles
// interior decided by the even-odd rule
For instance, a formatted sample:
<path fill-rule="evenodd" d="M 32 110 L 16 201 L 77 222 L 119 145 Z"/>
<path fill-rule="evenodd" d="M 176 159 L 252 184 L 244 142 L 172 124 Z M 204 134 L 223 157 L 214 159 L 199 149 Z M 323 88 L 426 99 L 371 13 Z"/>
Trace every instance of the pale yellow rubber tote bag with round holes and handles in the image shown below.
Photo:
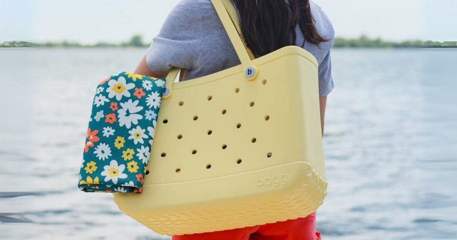
<path fill-rule="evenodd" d="M 233 5 L 211 2 L 241 65 L 176 83 L 173 69 L 143 193 L 113 193 L 121 211 L 159 234 L 305 217 L 326 195 L 315 57 L 287 46 L 250 58 Z"/>

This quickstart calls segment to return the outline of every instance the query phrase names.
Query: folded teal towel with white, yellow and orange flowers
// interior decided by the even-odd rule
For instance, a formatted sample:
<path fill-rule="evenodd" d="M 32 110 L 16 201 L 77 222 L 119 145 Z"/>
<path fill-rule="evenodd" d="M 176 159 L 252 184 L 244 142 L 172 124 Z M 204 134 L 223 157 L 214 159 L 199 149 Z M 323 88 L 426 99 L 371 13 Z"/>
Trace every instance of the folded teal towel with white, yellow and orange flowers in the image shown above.
<path fill-rule="evenodd" d="M 121 72 L 97 87 L 78 186 L 142 192 L 165 79 Z"/>

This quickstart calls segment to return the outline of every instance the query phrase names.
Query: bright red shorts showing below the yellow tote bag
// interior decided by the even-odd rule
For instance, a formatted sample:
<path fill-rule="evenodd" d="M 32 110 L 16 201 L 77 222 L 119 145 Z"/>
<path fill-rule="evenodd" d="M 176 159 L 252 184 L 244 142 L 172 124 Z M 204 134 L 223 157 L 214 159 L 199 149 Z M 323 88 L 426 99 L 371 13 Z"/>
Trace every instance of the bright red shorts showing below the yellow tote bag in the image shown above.
<path fill-rule="evenodd" d="M 307 217 L 231 230 L 172 236 L 172 240 L 320 240 L 316 212 Z"/>

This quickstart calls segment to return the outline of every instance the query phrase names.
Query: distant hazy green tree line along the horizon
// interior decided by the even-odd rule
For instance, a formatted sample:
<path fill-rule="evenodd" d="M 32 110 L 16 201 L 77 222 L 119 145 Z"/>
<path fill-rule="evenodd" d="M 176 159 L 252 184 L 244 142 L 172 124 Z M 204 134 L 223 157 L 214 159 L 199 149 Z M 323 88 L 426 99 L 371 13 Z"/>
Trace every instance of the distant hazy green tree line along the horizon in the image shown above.
<path fill-rule="evenodd" d="M 148 44 L 143 43 L 143 39 L 140 35 L 133 36 L 130 41 L 123 42 L 120 44 L 113 43 L 96 43 L 92 45 L 84 45 L 77 42 L 64 41 L 61 43 L 32 43 L 27 41 L 8 41 L 0 44 L 0 48 L 18 48 L 18 47 L 47 47 L 47 48 L 146 48 Z M 370 39 L 365 35 L 360 36 L 357 39 L 345 39 L 335 38 L 334 48 L 457 48 L 457 41 L 447 42 L 433 42 L 433 41 L 421 41 L 421 40 L 410 40 L 403 42 L 389 42 L 383 41 L 380 38 Z"/>

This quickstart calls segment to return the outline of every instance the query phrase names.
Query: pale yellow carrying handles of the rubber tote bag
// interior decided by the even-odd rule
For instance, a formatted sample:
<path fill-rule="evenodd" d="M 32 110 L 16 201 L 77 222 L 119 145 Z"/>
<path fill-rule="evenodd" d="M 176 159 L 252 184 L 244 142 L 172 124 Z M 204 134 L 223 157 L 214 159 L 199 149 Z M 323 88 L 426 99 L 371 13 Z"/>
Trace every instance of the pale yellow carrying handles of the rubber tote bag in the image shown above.
<path fill-rule="evenodd" d="M 220 22 L 222 22 L 227 35 L 229 35 L 230 41 L 235 48 L 238 58 L 240 59 L 241 65 L 244 69 L 245 78 L 249 81 L 254 80 L 257 77 L 258 71 L 251 60 L 254 60 L 255 57 L 242 37 L 243 34 L 240 27 L 240 21 L 235 7 L 230 0 L 211 0 L 211 3 L 219 16 Z M 171 96 L 171 86 L 178 76 L 179 71 L 181 71 L 179 80 L 181 81 L 183 75 L 182 69 L 172 68 L 168 73 L 165 79 L 165 89 L 162 99 L 167 99 Z"/>

